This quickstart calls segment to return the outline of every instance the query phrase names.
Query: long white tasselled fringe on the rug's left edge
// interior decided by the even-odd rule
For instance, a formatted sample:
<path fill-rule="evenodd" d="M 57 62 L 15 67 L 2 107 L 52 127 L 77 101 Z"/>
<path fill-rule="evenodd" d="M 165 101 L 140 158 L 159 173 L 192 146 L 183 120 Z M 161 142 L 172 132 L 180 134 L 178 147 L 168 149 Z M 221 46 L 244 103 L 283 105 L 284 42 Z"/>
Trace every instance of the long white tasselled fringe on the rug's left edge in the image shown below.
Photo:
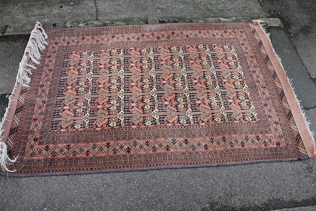
<path fill-rule="evenodd" d="M 48 44 L 46 42 L 47 34 L 42 28 L 40 22 L 36 22 L 34 29 L 31 32 L 30 40 L 25 48 L 24 55 L 22 57 L 22 61 L 19 65 L 19 71 L 16 76 L 16 83 L 14 85 L 12 94 L 9 97 L 9 104 L 5 109 L 4 116 L 2 121 L 0 122 L 0 165 L 1 169 L 6 172 L 14 172 L 17 169 L 10 170 L 9 166 L 16 162 L 18 157 L 14 157 L 10 159 L 7 155 L 7 146 L 3 142 L 2 132 L 3 124 L 5 121 L 9 121 L 7 119 L 9 114 L 9 108 L 12 106 L 13 101 L 17 100 L 14 98 L 14 94 L 17 91 L 18 83 L 23 87 L 30 87 L 31 79 L 29 75 L 32 74 L 32 71 L 36 69 L 35 65 L 40 64 L 40 50 L 45 49 L 44 44 Z"/>

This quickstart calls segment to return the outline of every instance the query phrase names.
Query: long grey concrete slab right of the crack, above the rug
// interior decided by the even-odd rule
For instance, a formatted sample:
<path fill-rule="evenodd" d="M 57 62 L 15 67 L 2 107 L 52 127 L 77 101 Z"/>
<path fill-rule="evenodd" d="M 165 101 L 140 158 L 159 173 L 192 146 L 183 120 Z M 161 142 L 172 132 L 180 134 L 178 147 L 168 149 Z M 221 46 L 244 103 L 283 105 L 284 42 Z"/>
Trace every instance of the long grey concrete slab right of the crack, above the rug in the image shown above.
<path fill-rule="evenodd" d="M 147 21 L 149 17 L 265 17 L 256 0 L 96 0 L 101 20 Z"/>

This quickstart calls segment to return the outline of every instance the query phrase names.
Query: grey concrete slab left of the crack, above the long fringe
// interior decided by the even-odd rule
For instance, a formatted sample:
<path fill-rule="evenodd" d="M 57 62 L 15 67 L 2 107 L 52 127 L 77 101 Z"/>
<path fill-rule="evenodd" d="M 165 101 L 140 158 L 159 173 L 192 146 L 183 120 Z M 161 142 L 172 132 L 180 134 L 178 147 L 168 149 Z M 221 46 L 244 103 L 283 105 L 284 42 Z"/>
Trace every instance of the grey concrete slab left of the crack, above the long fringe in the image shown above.
<path fill-rule="evenodd" d="M 94 0 L 0 0 L 0 27 L 5 35 L 30 34 L 38 20 L 47 27 L 96 19 Z"/>

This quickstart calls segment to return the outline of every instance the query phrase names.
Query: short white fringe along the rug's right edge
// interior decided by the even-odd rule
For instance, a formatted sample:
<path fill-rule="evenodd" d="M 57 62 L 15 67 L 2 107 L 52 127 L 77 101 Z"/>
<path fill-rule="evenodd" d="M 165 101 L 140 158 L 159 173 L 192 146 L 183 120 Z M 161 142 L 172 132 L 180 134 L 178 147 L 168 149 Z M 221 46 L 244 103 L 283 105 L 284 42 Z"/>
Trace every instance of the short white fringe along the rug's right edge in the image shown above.
<path fill-rule="evenodd" d="M 269 42 L 270 42 L 270 45 L 271 45 L 271 47 L 272 47 L 272 50 L 273 50 L 273 52 L 274 52 L 274 54 L 275 54 L 275 56 L 276 56 L 276 58 L 277 58 L 277 60 L 278 60 L 279 65 L 281 66 L 281 68 L 283 69 L 283 71 L 286 73 L 286 71 L 285 71 L 285 69 L 284 69 L 284 67 L 283 67 L 283 65 L 282 65 L 281 58 L 277 55 L 277 53 L 276 53 L 276 51 L 275 51 L 275 49 L 274 49 L 274 47 L 273 47 L 273 45 L 272 45 L 272 42 L 271 42 L 271 39 L 270 39 L 270 33 L 268 33 L 267 30 L 266 30 L 266 28 L 264 28 L 264 27 L 261 25 L 261 23 L 260 23 L 259 20 L 253 20 L 252 22 L 253 22 L 253 23 L 257 23 L 257 24 L 259 25 L 260 29 L 264 32 L 264 34 L 266 34 L 266 36 L 268 37 L 268 40 L 269 40 Z M 305 124 L 306 124 L 306 126 L 307 126 L 306 128 L 307 128 L 307 130 L 309 131 L 309 133 L 310 133 L 311 136 L 312 136 L 313 142 L 311 142 L 311 144 L 314 145 L 314 153 L 315 153 L 315 152 L 316 152 L 316 140 L 315 140 L 315 137 L 314 137 L 314 136 L 315 136 L 315 132 L 311 130 L 311 128 L 310 128 L 310 122 L 309 122 L 309 120 L 307 120 L 306 114 L 305 114 L 305 112 L 303 111 L 303 106 L 301 106 L 300 100 L 297 99 L 297 95 L 296 95 L 296 93 L 295 93 L 295 91 L 294 91 L 295 87 L 293 87 L 293 84 L 292 84 L 292 79 L 289 80 L 289 78 L 287 77 L 287 74 L 285 74 L 285 75 L 286 75 L 286 79 L 287 79 L 288 83 L 290 84 L 290 87 L 291 87 L 292 90 L 293 90 L 293 94 L 294 94 L 294 96 L 295 96 L 295 100 L 296 100 L 296 102 L 297 102 L 298 107 L 300 108 L 301 115 L 303 116 L 304 121 L 305 121 Z M 315 154 L 314 154 L 314 156 L 315 156 Z"/>

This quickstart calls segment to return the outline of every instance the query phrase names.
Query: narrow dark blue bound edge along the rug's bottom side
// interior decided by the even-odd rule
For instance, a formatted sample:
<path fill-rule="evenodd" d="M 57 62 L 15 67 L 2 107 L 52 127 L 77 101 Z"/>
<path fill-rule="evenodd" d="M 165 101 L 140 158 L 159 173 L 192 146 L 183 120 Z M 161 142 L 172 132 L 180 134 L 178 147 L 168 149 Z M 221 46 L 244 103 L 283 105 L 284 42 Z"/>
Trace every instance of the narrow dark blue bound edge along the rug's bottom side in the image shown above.
<path fill-rule="evenodd" d="M 79 174 L 95 174 L 95 173 L 114 173 L 114 172 L 133 172 L 133 171 L 147 171 L 147 170 L 163 170 L 163 169 L 194 169 L 207 167 L 221 167 L 221 166 L 235 166 L 241 164 L 260 164 L 270 162 L 287 162 L 287 161 L 304 161 L 309 159 L 308 156 L 300 158 L 283 158 L 283 159 L 267 159 L 257 161 L 240 161 L 233 163 L 217 163 L 217 164 L 201 164 L 201 165 L 186 165 L 186 166 L 160 166 L 160 167 L 146 167 L 135 169 L 104 169 L 104 170 L 88 170 L 88 171 L 68 171 L 68 172 L 53 172 L 53 173 L 7 173 L 0 172 L 0 176 L 7 177 L 32 177 L 32 176 L 66 176 Z"/>

